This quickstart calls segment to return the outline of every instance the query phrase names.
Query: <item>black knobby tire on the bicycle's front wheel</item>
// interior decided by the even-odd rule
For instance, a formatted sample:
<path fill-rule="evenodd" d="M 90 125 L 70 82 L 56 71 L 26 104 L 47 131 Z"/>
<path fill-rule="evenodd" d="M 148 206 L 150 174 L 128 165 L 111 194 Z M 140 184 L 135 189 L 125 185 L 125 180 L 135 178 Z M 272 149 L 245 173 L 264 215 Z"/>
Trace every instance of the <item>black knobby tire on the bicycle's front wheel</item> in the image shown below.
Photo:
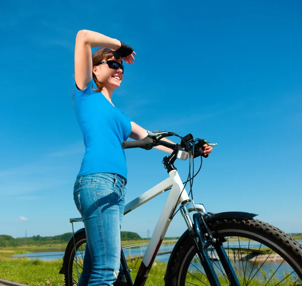
<path fill-rule="evenodd" d="M 261 245 L 264 245 L 264 246 L 270 248 L 271 252 L 268 255 L 268 258 L 273 253 L 272 256 L 274 256 L 275 258 L 277 257 L 277 259 L 284 259 L 284 261 L 287 262 L 287 264 L 290 265 L 290 267 L 296 273 L 296 276 L 290 274 L 290 275 L 292 275 L 292 277 L 294 279 L 296 279 L 294 282 L 298 281 L 296 283 L 296 285 L 302 285 L 302 282 L 301 282 L 301 280 L 302 280 L 302 247 L 299 245 L 298 242 L 293 240 L 291 237 L 286 235 L 284 232 L 282 232 L 279 229 L 277 229 L 273 226 L 270 226 L 266 223 L 260 222 L 258 220 L 253 220 L 253 219 L 251 219 L 251 220 L 239 220 L 239 219 L 226 219 L 225 220 L 224 219 L 224 220 L 208 223 L 208 227 L 210 228 L 214 238 L 222 239 L 222 238 L 228 237 L 228 245 L 229 245 L 229 237 L 231 239 L 231 237 L 237 236 L 238 240 L 239 240 L 239 238 L 243 238 L 244 239 L 243 241 L 246 241 L 247 239 L 249 239 L 249 246 L 250 246 L 250 240 L 252 239 L 257 243 L 261 243 Z M 240 243 L 239 243 L 239 245 L 240 245 Z M 265 248 L 265 250 L 262 250 L 264 248 L 261 248 L 261 245 L 260 245 L 259 251 L 261 249 L 262 253 L 267 252 L 266 248 Z M 230 249 L 231 248 L 228 247 L 228 251 Z M 251 248 L 250 253 L 252 253 L 252 252 L 255 253 L 256 250 L 257 249 Z M 213 252 L 214 251 L 211 251 L 210 253 L 213 253 Z M 246 252 L 247 252 L 247 254 L 246 254 Z M 197 253 L 196 248 L 194 247 L 193 242 L 192 242 L 188 232 L 186 232 L 182 236 L 182 238 L 179 240 L 179 242 L 175 245 L 175 248 L 174 248 L 173 252 L 171 253 L 171 256 L 170 256 L 170 259 L 168 262 L 168 266 L 167 266 L 166 275 L 165 275 L 165 285 L 166 286 L 185 286 L 185 285 L 191 285 L 191 284 L 193 284 L 193 285 L 206 284 L 207 285 L 207 284 L 209 284 L 209 282 L 207 282 L 207 283 L 204 282 L 204 281 L 207 281 L 207 279 L 203 277 L 203 276 L 205 276 L 205 274 L 201 275 L 199 272 L 197 272 L 199 274 L 198 282 L 192 282 L 192 280 L 191 280 L 191 282 L 186 281 L 186 280 L 190 279 L 187 276 L 191 277 L 191 275 L 193 273 L 193 272 L 189 273 L 191 271 L 191 270 L 189 271 L 189 266 L 191 268 L 192 268 L 191 264 L 194 266 L 195 262 L 192 263 L 192 261 L 193 261 L 193 259 L 195 259 L 194 257 L 196 255 L 196 253 Z M 228 255 L 229 255 L 229 257 L 232 257 L 232 253 L 231 253 L 231 255 L 230 255 L 230 253 Z M 249 255 L 249 250 L 247 251 L 245 249 L 243 251 L 243 253 L 241 253 L 241 260 L 240 260 L 240 255 L 238 253 L 238 263 L 239 263 L 240 268 L 241 268 L 240 261 L 243 261 L 243 258 L 246 259 L 245 255 Z M 265 254 L 263 254 L 263 255 L 265 255 Z M 260 254 L 260 256 L 259 256 L 259 254 L 257 254 L 257 257 L 258 256 L 261 257 L 263 255 Z M 276 255 L 279 255 L 279 256 L 276 256 Z M 257 261 L 257 257 L 253 258 L 253 259 L 255 259 L 254 265 Z M 235 263 L 235 265 L 236 265 L 236 253 L 235 252 L 234 252 L 233 258 L 234 258 L 233 263 Z M 266 258 L 265 261 L 267 261 L 268 258 Z M 262 259 L 264 259 L 264 258 L 262 258 Z M 195 261 L 196 261 L 196 259 L 195 259 Z M 213 261 L 214 261 L 214 258 L 212 257 L 212 263 L 213 263 Z M 244 275 L 246 275 L 245 270 L 247 269 L 247 264 L 249 263 L 249 265 L 251 265 L 249 259 L 245 260 L 245 263 L 246 263 L 246 265 L 244 265 L 244 263 L 242 262 L 242 270 L 244 272 Z M 259 263 L 259 262 L 257 262 L 257 263 Z M 281 264 L 282 263 L 283 262 L 281 262 Z M 263 262 L 263 264 L 264 264 L 264 262 Z M 287 264 L 285 263 L 284 265 L 287 266 Z M 267 274 L 266 274 L 266 272 L 263 273 L 263 269 L 261 271 L 262 265 L 260 265 L 260 269 L 257 271 L 260 271 L 261 275 L 264 275 L 264 277 L 265 277 Z M 283 265 L 283 267 L 284 267 L 284 265 Z M 219 268 L 218 266 L 219 266 L 219 260 L 216 260 L 216 266 L 215 266 L 216 270 L 218 270 L 218 268 Z M 221 265 L 220 265 L 220 267 L 221 267 Z M 278 269 L 279 269 L 279 267 L 278 267 Z M 259 264 L 258 264 L 258 268 L 259 268 Z M 223 269 L 220 269 L 220 270 L 223 274 Z M 242 270 L 240 269 L 240 271 L 242 271 Z M 251 270 L 251 273 L 252 273 L 252 271 L 253 271 L 253 269 Z M 242 285 L 248 285 L 248 284 L 250 284 L 252 279 L 254 279 L 255 276 L 253 276 L 253 278 L 251 280 L 249 280 L 251 278 L 251 273 L 248 278 L 246 278 L 244 276 L 244 279 L 243 280 L 241 279 L 240 283 Z M 253 274 L 254 274 L 254 272 L 253 272 Z M 274 274 L 275 273 L 273 273 L 273 275 Z M 226 281 L 225 284 L 230 285 L 230 281 L 228 282 L 228 280 L 226 279 L 227 277 L 225 278 L 225 276 L 226 276 L 225 272 L 223 275 L 220 276 L 220 277 L 222 277 L 221 278 L 222 280 L 219 280 L 219 281 L 222 282 L 223 278 L 224 278 Z M 239 275 L 242 275 L 242 272 L 240 274 L 238 274 L 238 276 Z M 289 277 L 289 279 L 291 279 L 290 275 L 286 277 L 287 280 L 288 280 L 288 277 Z M 259 276 L 259 273 L 258 273 L 258 276 Z M 258 276 L 255 279 L 258 279 Z M 200 278 L 200 277 L 202 277 L 202 278 Z M 283 276 L 281 276 L 279 278 L 279 280 L 277 280 L 277 281 L 279 281 L 279 284 L 277 282 L 276 282 L 276 284 L 280 285 L 284 281 L 284 280 L 281 280 L 282 277 Z M 266 277 L 266 280 L 268 280 L 268 278 L 269 278 L 269 276 Z M 275 278 L 276 278 L 276 276 L 275 276 Z M 273 278 L 273 280 L 275 278 Z M 272 277 L 270 277 L 270 279 L 268 280 L 267 283 L 269 283 L 270 281 L 272 281 Z M 222 283 L 222 284 L 224 284 L 224 283 Z M 256 284 L 261 284 L 261 283 L 256 282 Z"/>

